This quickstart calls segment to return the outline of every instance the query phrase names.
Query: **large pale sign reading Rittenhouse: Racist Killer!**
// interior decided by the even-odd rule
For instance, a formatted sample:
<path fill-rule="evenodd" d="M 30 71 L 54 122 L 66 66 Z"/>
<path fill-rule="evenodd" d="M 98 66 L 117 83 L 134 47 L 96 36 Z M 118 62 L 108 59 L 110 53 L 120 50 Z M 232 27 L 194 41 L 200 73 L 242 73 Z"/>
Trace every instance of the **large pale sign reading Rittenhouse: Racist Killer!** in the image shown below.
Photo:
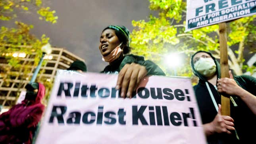
<path fill-rule="evenodd" d="M 133 98 L 117 75 L 59 72 L 36 144 L 205 144 L 189 78 L 151 76 Z"/>

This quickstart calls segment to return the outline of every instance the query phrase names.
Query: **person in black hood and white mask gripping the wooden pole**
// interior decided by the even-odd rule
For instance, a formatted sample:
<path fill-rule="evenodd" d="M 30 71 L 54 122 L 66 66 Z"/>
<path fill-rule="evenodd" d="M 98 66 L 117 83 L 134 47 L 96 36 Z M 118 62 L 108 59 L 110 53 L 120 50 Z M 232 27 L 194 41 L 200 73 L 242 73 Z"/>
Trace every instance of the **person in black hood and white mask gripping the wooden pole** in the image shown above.
<path fill-rule="evenodd" d="M 220 65 L 211 53 L 198 51 L 191 68 L 199 82 L 194 92 L 209 144 L 254 143 L 256 79 L 247 75 L 220 79 Z M 221 94 L 230 96 L 231 117 L 221 115 Z"/>

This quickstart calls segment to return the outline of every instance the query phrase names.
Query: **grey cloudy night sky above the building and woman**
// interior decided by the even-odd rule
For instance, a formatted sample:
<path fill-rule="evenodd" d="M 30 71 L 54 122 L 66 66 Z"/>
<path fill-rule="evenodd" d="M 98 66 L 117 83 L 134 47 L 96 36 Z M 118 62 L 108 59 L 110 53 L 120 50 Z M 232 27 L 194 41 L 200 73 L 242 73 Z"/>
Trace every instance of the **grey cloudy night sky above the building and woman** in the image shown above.
<path fill-rule="evenodd" d="M 54 25 L 38 19 L 36 12 L 18 13 L 15 20 L 32 24 L 32 34 L 50 37 L 52 46 L 66 48 L 85 59 L 88 71 L 99 72 L 108 64 L 98 50 L 102 30 L 108 25 L 124 25 L 130 32 L 132 20 L 146 19 L 150 14 L 148 0 L 47 0 L 46 6 L 56 10 Z M 13 21 L 0 25 L 13 26 Z"/>

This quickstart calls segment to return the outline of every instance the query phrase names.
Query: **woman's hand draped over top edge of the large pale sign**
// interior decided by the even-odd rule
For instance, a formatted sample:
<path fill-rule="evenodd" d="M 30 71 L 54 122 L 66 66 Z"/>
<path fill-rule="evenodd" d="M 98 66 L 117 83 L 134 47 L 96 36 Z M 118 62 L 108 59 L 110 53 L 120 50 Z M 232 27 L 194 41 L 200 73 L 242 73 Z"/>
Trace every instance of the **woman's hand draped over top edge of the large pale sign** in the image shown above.
<path fill-rule="evenodd" d="M 147 75 L 146 67 L 137 63 L 127 63 L 118 74 L 115 89 L 121 88 L 121 97 L 131 98 L 133 91 L 137 89 L 142 78 Z"/>

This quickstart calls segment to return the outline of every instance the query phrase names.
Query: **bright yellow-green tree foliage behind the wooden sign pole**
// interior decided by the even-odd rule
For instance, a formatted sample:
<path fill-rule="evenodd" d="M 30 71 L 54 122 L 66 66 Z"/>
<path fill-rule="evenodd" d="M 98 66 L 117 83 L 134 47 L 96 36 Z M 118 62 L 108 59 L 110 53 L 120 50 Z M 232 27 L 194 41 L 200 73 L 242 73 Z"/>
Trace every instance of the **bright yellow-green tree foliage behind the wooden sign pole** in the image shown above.
<path fill-rule="evenodd" d="M 134 27 L 131 33 L 132 52 L 154 60 L 158 65 L 164 65 L 164 55 L 170 52 L 187 54 L 198 50 L 211 51 L 219 57 L 219 25 L 195 29 L 185 33 L 186 3 L 182 0 L 149 0 L 150 10 L 156 10 L 158 17 L 149 15 L 146 20 L 132 21 Z M 256 15 L 237 19 L 228 25 L 228 45 L 239 47 L 238 54 L 232 56 L 230 68 L 240 67 L 235 72 L 240 73 L 243 63 L 244 45 L 251 52 L 256 52 L 256 27 L 253 23 Z M 233 50 L 235 51 L 235 50 Z M 231 53 L 230 53 L 231 54 Z M 187 60 L 186 65 L 189 65 Z M 235 66 L 236 65 L 236 66 Z M 239 65 L 239 66 L 237 66 Z M 190 67 L 180 69 L 179 75 L 191 75 Z"/>

